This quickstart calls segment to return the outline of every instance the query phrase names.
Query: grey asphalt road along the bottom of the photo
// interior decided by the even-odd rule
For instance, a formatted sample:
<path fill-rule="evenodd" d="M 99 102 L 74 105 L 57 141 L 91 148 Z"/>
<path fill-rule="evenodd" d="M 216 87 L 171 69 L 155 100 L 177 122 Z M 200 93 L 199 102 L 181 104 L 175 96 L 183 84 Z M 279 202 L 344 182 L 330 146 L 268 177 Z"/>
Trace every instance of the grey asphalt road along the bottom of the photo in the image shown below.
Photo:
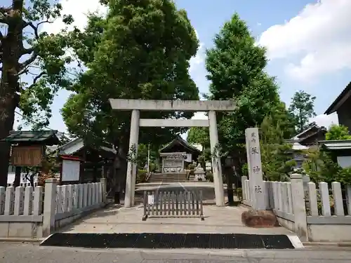
<path fill-rule="evenodd" d="M 350 249 L 331 250 L 88 250 L 0 243 L 1 263 L 346 263 Z"/>

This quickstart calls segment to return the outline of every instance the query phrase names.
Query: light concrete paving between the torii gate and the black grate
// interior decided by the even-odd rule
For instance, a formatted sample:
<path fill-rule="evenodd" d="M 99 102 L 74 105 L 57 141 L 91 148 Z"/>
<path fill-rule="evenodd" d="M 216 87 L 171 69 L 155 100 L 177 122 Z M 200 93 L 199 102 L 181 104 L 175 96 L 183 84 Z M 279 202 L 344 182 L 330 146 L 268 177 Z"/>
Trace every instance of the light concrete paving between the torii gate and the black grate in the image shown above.
<path fill-rule="evenodd" d="M 205 220 L 199 218 L 148 218 L 142 221 L 143 206 L 110 207 L 98 210 L 63 229 L 65 233 L 218 233 L 218 234 L 286 234 L 284 227 L 251 228 L 241 223 L 247 208 L 204 205 Z"/>

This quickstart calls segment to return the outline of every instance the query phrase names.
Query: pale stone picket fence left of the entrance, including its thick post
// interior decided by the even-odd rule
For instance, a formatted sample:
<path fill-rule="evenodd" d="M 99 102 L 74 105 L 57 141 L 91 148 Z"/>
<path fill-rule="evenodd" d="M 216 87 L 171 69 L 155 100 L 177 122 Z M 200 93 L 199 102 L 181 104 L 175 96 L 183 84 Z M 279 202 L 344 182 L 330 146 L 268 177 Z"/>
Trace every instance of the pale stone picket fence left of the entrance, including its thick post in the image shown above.
<path fill-rule="evenodd" d="M 106 203 L 106 182 L 0 187 L 0 238 L 42 238 Z"/>

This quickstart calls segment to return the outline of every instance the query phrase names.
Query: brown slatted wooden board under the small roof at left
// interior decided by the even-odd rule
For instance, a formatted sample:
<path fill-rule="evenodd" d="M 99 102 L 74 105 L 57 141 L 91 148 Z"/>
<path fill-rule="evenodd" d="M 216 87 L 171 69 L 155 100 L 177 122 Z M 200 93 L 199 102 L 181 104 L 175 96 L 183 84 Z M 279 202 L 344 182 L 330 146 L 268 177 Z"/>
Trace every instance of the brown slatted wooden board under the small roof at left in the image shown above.
<path fill-rule="evenodd" d="M 13 146 L 11 164 L 13 166 L 41 166 L 44 147 L 35 146 Z"/>

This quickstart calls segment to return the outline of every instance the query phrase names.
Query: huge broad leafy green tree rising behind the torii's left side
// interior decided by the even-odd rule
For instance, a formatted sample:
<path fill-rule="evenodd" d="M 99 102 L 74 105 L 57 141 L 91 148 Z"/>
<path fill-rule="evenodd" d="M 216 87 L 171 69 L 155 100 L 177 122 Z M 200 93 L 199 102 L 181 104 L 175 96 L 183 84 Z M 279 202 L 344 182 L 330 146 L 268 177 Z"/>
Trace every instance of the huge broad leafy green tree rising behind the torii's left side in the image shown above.
<path fill-rule="evenodd" d="M 130 112 L 112 112 L 110 98 L 197 100 L 190 75 L 190 58 L 198 40 L 184 10 L 171 0 L 109 1 L 106 18 L 89 17 L 84 32 L 75 29 L 76 54 L 88 68 L 73 86 L 62 116 L 74 135 L 86 119 L 88 140 L 105 141 L 118 149 L 119 179 L 126 175 Z M 84 114 L 85 113 L 85 114 Z M 152 119 L 192 117 L 183 112 L 141 112 Z M 183 133 L 183 128 L 143 128 L 140 143 L 158 145 Z M 124 180 L 121 181 L 123 183 Z"/>

